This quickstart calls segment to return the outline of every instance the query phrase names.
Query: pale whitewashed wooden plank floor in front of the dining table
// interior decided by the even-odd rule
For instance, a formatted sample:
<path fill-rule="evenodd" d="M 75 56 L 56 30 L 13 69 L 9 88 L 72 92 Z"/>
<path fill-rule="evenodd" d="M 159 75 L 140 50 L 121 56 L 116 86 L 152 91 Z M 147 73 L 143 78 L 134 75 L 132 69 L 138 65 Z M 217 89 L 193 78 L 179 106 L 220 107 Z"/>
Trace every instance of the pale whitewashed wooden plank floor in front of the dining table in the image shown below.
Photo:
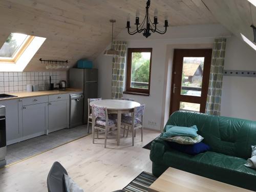
<path fill-rule="evenodd" d="M 84 191 L 113 191 L 122 189 L 143 170 L 152 173 L 150 150 L 142 148 L 159 133 L 144 130 L 144 141 L 137 133 L 135 146 L 131 136 L 108 139 L 107 147 L 92 144 L 92 135 L 54 148 L 22 162 L 0 169 L 0 191 L 47 191 L 47 175 L 54 161 L 59 161 L 71 178 Z"/>

